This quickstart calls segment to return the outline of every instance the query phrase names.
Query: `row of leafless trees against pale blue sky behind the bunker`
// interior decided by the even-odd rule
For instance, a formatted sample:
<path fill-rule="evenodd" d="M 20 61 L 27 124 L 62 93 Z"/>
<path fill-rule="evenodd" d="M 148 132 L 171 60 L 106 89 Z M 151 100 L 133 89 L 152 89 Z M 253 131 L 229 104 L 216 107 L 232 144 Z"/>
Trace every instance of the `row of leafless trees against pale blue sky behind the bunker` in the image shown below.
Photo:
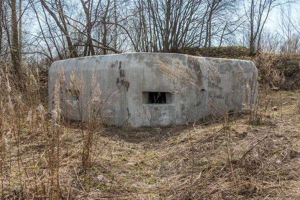
<path fill-rule="evenodd" d="M 250 55 L 280 45 L 294 53 L 298 25 L 291 6 L 281 9 L 280 32 L 264 28 L 270 12 L 288 1 L 0 0 L 0 55 L 9 53 L 20 74 L 33 54 L 51 63 L 124 51 L 184 52 L 186 47 L 203 47 L 207 56 L 211 47 L 223 45 L 245 45 Z M 33 31 L 26 29 L 24 13 L 35 21 Z"/>

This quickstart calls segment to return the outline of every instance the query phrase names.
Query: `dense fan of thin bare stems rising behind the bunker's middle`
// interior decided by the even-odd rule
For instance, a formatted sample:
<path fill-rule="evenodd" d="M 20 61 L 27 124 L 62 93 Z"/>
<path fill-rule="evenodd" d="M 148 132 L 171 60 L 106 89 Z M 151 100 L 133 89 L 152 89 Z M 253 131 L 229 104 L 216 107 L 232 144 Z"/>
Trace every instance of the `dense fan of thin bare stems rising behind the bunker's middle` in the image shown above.
<path fill-rule="evenodd" d="M 169 52 L 197 40 L 196 18 L 202 0 L 136 0 L 134 43 L 138 51 Z"/>

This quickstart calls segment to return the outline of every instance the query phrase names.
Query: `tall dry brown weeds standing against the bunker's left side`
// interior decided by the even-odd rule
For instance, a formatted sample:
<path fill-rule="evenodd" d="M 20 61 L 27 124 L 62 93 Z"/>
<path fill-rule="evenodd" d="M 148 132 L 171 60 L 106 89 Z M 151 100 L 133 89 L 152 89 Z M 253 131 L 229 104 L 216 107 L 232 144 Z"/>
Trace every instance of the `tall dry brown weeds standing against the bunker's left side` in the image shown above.
<path fill-rule="evenodd" d="M 76 116 L 76 120 L 78 120 L 82 138 L 81 162 L 83 179 L 86 182 L 90 182 L 90 168 L 100 154 L 100 152 L 97 152 L 99 137 L 96 133 L 103 130 L 103 120 L 111 118 L 109 107 L 117 103 L 114 99 L 121 94 L 115 91 L 108 93 L 107 96 L 103 96 L 100 85 L 97 82 L 96 73 L 93 74 L 90 82 L 86 82 L 82 74 L 78 75 L 76 70 L 72 70 L 68 87 L 66 86 L 63 67 L 61 67 L 61 71 L 56 74 L 56 81 L 57 79 L 62 79 L 60 81 L 62 91 L 57 95 L 59 100 L 56 100 L 54 89 L 54 101 L 61 103 L 68 123 L 71 115 L 73 117 Z M 70 98 L 68 99 L 68 97 Z M 54 103 L 54 111 L 56 110 Z M 58 110 L 61 111 L 61 109 Z M 59 115 L 60 113 L 58 113 Z"/>

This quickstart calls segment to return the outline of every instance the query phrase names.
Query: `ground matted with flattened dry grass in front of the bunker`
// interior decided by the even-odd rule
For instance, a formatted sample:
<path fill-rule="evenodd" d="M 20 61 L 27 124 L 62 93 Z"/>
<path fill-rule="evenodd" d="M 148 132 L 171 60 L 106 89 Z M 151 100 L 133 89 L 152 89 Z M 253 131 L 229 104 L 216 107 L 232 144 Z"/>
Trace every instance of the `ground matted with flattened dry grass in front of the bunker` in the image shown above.
<path fill-rule="evenodd" d="M 66 199 L 300 199 L 299 97 L 271 94 L 259 125 L 230 113 L 225 126 L 206 118 L 188 126 L 101 128 L 85 180 L 79 126 L 65 125 L 60 192 Z M 18 147 L 6 140 L 12 146 L 1 178 L 6 199 L 22 198 L 22 192 L 43 198 L 34 185 L 49 184 L 47 136 L 28 129 L 24 122 Z"/>

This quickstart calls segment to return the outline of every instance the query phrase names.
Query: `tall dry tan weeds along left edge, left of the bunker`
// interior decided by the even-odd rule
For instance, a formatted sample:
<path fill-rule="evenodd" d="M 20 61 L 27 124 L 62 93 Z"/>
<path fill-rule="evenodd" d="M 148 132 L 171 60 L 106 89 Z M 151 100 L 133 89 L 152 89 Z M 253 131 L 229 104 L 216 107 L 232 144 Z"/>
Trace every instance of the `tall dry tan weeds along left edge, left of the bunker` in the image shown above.
<path fill-rule="evenodd" d="M 43 159 L 33 153 L 31 146 L 26 146 L 27 135 L 38 137 L 40 129 L 43 137 L 50 135 L 42 127 L 46 117 L 38 98 L 39 85 L 30 70 L 23 71 L 24 78 L 18 83 L 19 79 L 9 72 L 7 64 L 0 65 L 1 198 L 43 197 L 49 191 L 44 189 L 45 176 L 40 175 Z"/>

